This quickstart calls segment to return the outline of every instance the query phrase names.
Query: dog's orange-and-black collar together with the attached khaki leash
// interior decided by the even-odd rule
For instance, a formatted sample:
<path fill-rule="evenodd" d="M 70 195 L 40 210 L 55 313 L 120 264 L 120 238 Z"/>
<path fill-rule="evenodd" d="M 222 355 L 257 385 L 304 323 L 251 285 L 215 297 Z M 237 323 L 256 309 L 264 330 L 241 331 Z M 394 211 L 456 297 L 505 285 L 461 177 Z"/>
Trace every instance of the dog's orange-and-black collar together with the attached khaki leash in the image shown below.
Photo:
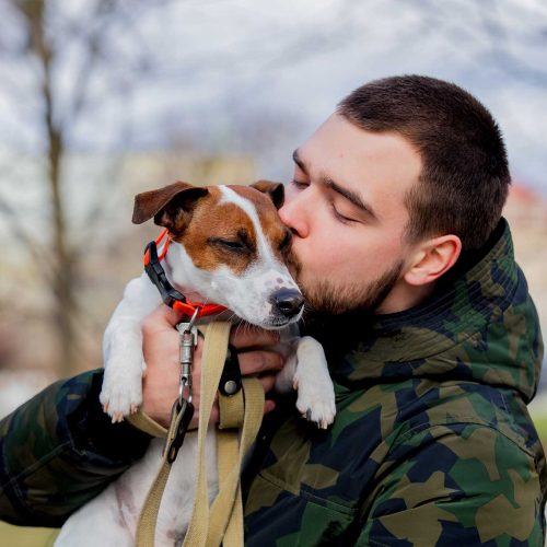
<path fill-rule="evenodd" d="M 158 255 L 158 245 L 165 238 Z M 173 310 L 191 317 L 181 323 L 181 387 L 173 405 L 168 429 L 161 427 L 142 410 L 128 417 L 137 428 L 154 437 L 165 438 L 161 468 L 147 494 L 137 525 L 137 547 L 153 547 L 158 512 L 167 482 L 171 466 L 184 442 L 194 416 L 191 404 L 191 373 L 194 348 L 197 345 L 197 316 L 213 315 L 225 307 L 217 304 L 189 302 L 170 283 L 160 264 L 165 258 L 171 237 L 165 229 L 144 249 L 144 270 L 158 288 L 162 300 Z M 240 475 L 242 462 L 260 428 L 264 411 L 264 389 L 257 379 L 241 379 L 235 348 L 229 345 L 230 323 L 214 322 L 200 327 L 205 336 L 200 383 L 200 412 L 198 424 L 198 469 L 196 500 L 184 546 L 226 547 L 243 546 L 243 505 Z M 226 352 L 228 349 L 228 352 Z M 220 423 L 217 432 L 217 462 L 219 492 L 209 508 L 205 438 L 209 417 L 219 388 Z M 241 435 L 240 435 L 241 431 Z"/>

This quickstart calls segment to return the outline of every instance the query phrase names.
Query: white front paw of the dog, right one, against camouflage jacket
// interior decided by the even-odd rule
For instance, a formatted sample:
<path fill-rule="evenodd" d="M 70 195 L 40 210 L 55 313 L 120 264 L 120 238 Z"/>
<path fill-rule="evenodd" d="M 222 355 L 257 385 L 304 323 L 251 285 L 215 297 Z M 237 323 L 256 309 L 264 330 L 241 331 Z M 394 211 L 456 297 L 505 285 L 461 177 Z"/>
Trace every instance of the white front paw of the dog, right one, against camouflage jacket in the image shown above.
<path fill-rule="evenodd" d="M 322 374 L 305 379 L 294 374 L 294 388 L 299 391 L 296 408 L 309 421 L 327 429 L 335 420 L 336 403 L 333 382 Z"/>

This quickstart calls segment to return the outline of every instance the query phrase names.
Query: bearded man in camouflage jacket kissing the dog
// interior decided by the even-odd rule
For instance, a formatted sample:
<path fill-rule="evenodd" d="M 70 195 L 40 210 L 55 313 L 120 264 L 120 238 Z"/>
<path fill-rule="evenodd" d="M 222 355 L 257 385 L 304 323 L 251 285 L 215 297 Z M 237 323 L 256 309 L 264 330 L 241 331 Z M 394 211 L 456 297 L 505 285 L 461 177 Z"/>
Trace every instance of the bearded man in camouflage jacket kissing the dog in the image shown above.
<path fill-rule="evenodd" d="M 294 163 L 279 213 L 338 415 L 322 431 L 268 403 L 244 476 L 247 544 L 544 545 L 545 457 L 526 410 L 543 347 L 501 219 L 510 176 L 490 114 L 446 82 L 380 80 Z M 144 327 L 143 409 L 163 423 L 176 321 L 160 310 Z M 234 335 L 266 389 L 282 363 L 256 348 L 272 336 Z M 58 525 L 142 454 L 147 437 L 102 414 L 100 384 L 61 382 L 4 420 L 0 516 Z"/>

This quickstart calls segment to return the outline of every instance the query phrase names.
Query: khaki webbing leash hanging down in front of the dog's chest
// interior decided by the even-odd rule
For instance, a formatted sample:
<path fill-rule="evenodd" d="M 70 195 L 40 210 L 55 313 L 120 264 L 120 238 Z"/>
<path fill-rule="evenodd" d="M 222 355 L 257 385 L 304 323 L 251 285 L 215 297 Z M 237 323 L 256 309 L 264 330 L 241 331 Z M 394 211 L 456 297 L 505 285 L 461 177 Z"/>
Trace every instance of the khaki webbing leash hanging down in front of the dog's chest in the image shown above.
<path fill-rule="evenodd" d="M 264 389 L 256 379 L 244 379 L 243 388 L 236 394 L 219 395 L 221 422 L 217 433 L 219 468 L 219 493 L 209 508 L 205 438 L 214 396 L 226 357 L 230 323 L 216 322 L 207 326 L 203 346 L 199 426 L 198 469 L 196 500 L 188 531 L 184 540 L 186 547 L 243 546 L 243 508 L 240 474 L 243 458 L 258 433 L 264 411 Z M 200 327 L 201 329 L 201 327 Z M 136 427 L 155 437 L 167 437 L 166 446 L 174 438 L 183 418 L 183 411 L 172 417 L 168 431 L 139 411 L 129 418 Z M 241 429 L 240 429 L 241 428 Z M 240 435 L 241 430 L 241 435 Z M 137 527 L 137 546 L 153 547 L 158 511 L 171 470 L 164 450 L 162 467 L 150 488 Z"/>

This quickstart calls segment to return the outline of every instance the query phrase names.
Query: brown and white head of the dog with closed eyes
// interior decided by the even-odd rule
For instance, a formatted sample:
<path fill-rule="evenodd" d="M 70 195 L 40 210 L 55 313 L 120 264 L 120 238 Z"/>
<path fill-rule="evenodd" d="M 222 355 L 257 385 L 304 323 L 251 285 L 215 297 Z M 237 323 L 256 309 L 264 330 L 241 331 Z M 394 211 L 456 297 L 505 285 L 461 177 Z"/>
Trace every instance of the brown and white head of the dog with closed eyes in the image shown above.
<path fill-rule="evenodd" d="M 283 186 L 197 187 L 175 183 L 135 198 L 133 222 L 167 228 L 170 276 L 183 292 L 264 328 L 302 315 L 304 299 L 286 266 L 291 232 L 279 219 Z"/>

